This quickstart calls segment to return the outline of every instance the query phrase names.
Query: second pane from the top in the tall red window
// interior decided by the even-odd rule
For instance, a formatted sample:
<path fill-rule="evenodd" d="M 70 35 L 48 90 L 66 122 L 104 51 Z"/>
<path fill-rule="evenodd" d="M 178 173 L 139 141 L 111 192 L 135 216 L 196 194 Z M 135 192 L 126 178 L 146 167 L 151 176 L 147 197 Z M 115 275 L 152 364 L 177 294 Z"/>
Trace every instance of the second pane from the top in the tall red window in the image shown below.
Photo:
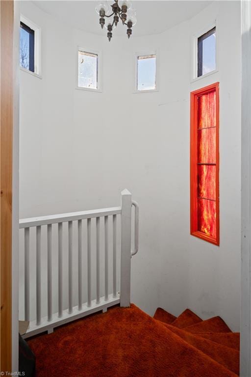
<path fill-rule="evenodd" d="M 198 162 L 216 162 L 216 128 L 198 130 Z"/>

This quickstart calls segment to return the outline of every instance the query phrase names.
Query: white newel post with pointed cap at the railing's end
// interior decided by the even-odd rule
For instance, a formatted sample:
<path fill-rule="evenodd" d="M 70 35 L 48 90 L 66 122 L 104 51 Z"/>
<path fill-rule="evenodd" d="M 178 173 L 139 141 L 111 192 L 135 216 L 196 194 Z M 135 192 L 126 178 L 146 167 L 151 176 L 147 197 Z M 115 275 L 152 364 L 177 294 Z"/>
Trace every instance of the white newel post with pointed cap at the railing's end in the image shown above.
<path fill-rule="evenodd" d="M 131 193 L 121 192 L 121 281 L 120 306 L 130 306 L 131 286 Z"/>

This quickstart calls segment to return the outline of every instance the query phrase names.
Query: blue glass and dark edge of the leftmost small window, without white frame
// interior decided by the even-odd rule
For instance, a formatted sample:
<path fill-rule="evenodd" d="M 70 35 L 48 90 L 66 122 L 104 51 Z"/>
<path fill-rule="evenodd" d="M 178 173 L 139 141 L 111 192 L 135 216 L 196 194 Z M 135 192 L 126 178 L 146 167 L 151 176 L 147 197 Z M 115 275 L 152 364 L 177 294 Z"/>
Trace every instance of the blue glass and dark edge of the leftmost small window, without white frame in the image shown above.
<path fill-rule="evenodd" d="M 20 66 L 31 72 L 35 70 L 34 35 L 34 30 L 20 22 Z"/>

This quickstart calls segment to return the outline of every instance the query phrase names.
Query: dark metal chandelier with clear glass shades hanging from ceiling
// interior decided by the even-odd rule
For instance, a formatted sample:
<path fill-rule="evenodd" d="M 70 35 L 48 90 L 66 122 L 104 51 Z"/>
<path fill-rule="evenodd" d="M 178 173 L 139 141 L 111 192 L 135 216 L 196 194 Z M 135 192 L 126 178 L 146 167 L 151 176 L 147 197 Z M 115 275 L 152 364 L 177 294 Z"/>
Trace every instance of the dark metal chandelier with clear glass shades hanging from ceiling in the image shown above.
<path fill-rule="evenodd" d="M 105 27 L 109 42 L 112 38 L 112 30 L 115 28 L 121 19 L 122 24 L 127 26 L 126 34 L 130 38 L 132 33 L 132 27 L 136 24 L 136 12 L 131 6 L 131 2 L 128 0 L 121 1 L 121 6 L 118 4 L 118 0 L 115 0 L 111 5 L 112 13 L 109 14 L 109 6 L 106 1 L 96 6 L 96 12 L 100 15 L 100 26 Z M 107 20 L 105 20 L 107 18 Z"/>

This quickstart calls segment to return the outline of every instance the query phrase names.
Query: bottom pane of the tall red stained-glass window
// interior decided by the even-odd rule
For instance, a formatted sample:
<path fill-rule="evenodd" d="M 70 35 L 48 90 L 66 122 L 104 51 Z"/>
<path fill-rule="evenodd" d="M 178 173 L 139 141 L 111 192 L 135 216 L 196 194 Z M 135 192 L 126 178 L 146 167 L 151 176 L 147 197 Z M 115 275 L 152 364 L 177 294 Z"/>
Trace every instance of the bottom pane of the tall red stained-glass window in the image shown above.
<path fill-rule="evenodd" d="M 216 237 L 216 202 L 198 199 L 198 230 Z"/>

